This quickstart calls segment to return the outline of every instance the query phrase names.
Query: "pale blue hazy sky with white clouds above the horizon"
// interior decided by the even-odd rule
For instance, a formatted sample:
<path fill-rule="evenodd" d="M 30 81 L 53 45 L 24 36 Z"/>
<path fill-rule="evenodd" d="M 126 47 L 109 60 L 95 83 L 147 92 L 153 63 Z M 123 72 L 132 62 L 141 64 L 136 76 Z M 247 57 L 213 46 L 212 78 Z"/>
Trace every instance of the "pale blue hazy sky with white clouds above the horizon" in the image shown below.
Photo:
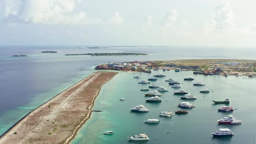
<path fill-rule="evenodd" d="M 256 47 L 256 0 L 0 0 L 0 45 Z"/>

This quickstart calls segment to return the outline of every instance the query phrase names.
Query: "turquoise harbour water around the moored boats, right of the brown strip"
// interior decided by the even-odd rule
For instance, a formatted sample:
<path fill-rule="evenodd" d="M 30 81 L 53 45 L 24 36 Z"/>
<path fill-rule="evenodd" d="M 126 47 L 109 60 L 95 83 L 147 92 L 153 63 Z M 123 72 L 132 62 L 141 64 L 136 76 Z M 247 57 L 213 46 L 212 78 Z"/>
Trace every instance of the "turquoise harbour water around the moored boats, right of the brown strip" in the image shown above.
<path fill-rule="evenodd" d="M 159 71 L 162 72 L 162 71 Z M 92 117 L 78 131 L 71 144 L 255 144 L 256 123 L 253 110 L 256 105 L 255 79 L 242 79 L 235 76 L 223 77 L 220 75 L 204 76 L 193 75 L 193 72 L 162 72 L 167 75 L 159 78 L 156 85 L 168 88 L 169 92 L 163 92 L 161 103 L 145 102 L 144 93 L 140 88 L 150 84 L 138 84 L 141 79 L 148 79 L 158 72 L 130 73 L 120 72 L 110 82 L 103 85 L 102 90 L 95 100 Z M 140 75 L 141 79 L 133 79 Z M 193 76 L 194 81 L 183 81 L 183 78 Z M 181 89 L 197 97 L 189 100 L 196 107 L 188 109 L 187 115 L 174 115 L 171 118 L 159 117 L 158 113 L 165 110 L 178 110 L 177 104 L 181 101 L 178 95 L 172 92 L 177 89 L 171 88 L 164 79 L 173 78 L 181 82 Z M 193 86 L 192 83 L 202 81 L 206 86 Z M 199 90 L 208 88 L 208 94 L 202 94 Z M 150 91 L 152 88 L 150 89 Z M 125 98 L 125 101 L 119 101 Z M 146 97 L 148 98 L 148 97 Z M 233 112 L 218 112 L 217 108 L 223 105 L 213 105 L 211 100 L 224 100 L 230 98 L 230 106 L 237 108 Z M 168 101 L 165 101 L 168 100 Z M 250 102 L 252 101 L 252 102 Z M 145 105 L 148 113 L 131 112 L 129 108 L 136 105 Z M 243 121 L 240 125 L 217 124 L 217 120 L 234 115 Z M 159 124 L 144 124 L 144 120 L 157 118 Z M 234 132 L 233 137 L 213 138 L 211 133 L 218 128 L 230 128 Z M 104 135 L 104 131 L 114 131 L 113 135 Z M 170 133 L 167 133 L 170 132 Z M 146 133 L 150 141 L 128 141 L 126 137 L 139 133 Z M 158 137 L 158 139 L 155 139 Z"/>

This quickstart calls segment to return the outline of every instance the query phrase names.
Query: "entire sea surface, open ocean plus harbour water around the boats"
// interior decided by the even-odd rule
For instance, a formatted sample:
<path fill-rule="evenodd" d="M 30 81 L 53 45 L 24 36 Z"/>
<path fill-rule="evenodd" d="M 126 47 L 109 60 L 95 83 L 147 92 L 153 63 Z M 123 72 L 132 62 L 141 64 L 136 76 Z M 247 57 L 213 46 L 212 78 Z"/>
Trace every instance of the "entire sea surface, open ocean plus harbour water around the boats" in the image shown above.
<path fill-rule="evenodd" d="M 1 134 L 34 108 L 95 72 L 95 65 L 100 63 L 167 59 L 255 59 L 254 54 L 256 53 L 255 49 L 237 48 L 138 46 L 84 49 L 85 47 L 88 46 L 0 46 Z M 41 53 L 45 50 L 54 50 L 58 53 Z M 149 55 L 64 56 L 64 54 L 69 53 L 89 52 L 144 52 Z M 22 54 L 27 55 L 27 57 L 11 57 Z M 165 72 L 168 77 L 177 80 L 190 75 L 194 76 L 192 72 L 177 74 L 172 71 L 168 72 Z M 151 74 L 138 74 L 145 79 L 151 76 Z M 221 105 L 211 105 L 211 99 L 223 100 L 226 97 L 230 98 L 232 106 L 238 108 L 237 111 L 233 112 L 234 115 L 242 119 L 244 123 L 230 128 L 236 134 L 234 137 L 221 141 L 240 144 L 251 141 L 255 143 L 254 116 L 248 112 L 250 109 L 254 109 L 254 105 L 249 105 L 248 100 L 253 101 L 255 90 L 252 86 L 256 84 L 255 80 L 238 79 L 231 76 L 224 79 L 222 76 L 205 77 L 198 75 L 198 80 L 207 79 L 207 81 L 205 80 L 207 88 L 213 89 L 213 93 L 204 97 L 197 94 L 198 89 L 195 90 L 194 87 L 190 88 L 187 85 L 184 88 L 198 97 L 197 100 L 193 101 L 196 108 L 191 110 L 190 114 L 161 119 L 158 125 L 145 125 L 144 120 L 152 117 L 158 118 L 157 114 L 163 110 L 174 111 L 180 100 L 174 97 L 171 88 L 165 82 L 161 83 L 162 80 L 159 79 L 156 84 L 161 84 L 170 90 L 163 96 L 163 98 L 168 97 L 168 103 L 163 101 L 160 105 L 144 104 L 144 96 L 139 91 L 140 87 L 138 87 L 137 81 L 131 79 L 133 75 L 137 74 L 121 72 L 102 87 L 100 95 L 96 98 L 94 109 L 103 109 L 104 111 L 92 114 L 92 118 L 79 130 L 72 144 L 126 143 L 126 137 L 138 133 L 148 134 L 151 138 L 148 143 L 152 144 L 168 141 L 175 141 L 177 144 L 187 141 L 198 143 L 198 140 L 202 143 L 218 143 L 220 140 L 213 139 L 210 133 L 220 127 L 217 124 L 217 119 L 227 116 L 227 114 L 217 113 L 217 106 L 220 107 Z M 125 97 L 126 100 L 120 103 L 119 97 Z M 129 108 L 139 104 L 147 105 L 151 111 L 142 115 L 129 111 Z M 118 108 L 119 106 L 120 108 Z M 102 132 L 108 129 L 112 129 L 115 134 L 110 137 L 102 135 Z M 171 133 L 167 135 L 167 131 Z M 239 134 L 242 132 L 243 134 Z M 158 139 L 154 139 L 154 137 L 158 137 Z"/>

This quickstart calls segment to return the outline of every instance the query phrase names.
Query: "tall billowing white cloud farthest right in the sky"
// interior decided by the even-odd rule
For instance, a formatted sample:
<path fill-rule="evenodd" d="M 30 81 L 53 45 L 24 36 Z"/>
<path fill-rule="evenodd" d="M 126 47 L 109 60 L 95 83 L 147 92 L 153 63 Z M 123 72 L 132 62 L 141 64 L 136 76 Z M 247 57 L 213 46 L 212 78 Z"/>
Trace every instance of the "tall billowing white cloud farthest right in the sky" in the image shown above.
<path fill-rule="evenodd" d="M 213 10 L 213 19 L 205 22 L 207 31 L 229 31 L 234 27 L 234 13 L 230 3 L 225 1 Z"/>

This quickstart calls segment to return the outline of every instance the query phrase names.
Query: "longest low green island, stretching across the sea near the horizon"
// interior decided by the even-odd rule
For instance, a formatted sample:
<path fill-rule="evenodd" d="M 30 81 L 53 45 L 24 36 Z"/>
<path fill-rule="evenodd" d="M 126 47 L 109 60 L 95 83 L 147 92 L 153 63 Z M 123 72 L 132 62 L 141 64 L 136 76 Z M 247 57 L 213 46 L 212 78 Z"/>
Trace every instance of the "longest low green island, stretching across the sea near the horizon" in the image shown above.
<path fill-rule="evenodd" d="M 147 53 L 134 53 L 134 52 L 117 52 L 117 53 L 80 53 L 80 54 L 66 54 L 65 56 L 147 56 Z"/>

